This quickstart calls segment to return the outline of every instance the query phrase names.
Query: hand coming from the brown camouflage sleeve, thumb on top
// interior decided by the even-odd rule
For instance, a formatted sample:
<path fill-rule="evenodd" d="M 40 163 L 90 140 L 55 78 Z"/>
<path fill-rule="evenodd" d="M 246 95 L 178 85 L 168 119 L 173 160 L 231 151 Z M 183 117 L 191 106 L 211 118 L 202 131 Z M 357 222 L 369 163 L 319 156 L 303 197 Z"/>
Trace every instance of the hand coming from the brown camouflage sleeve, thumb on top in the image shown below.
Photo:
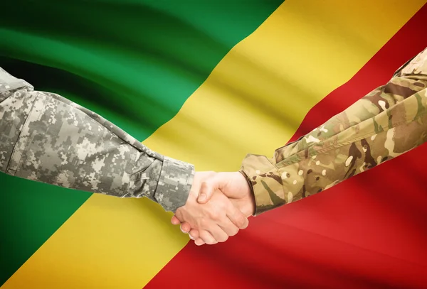
<path fill-rule="evenodd" d="M 239 172 L 230 173 L 201 173 L 203 178 L 199 178 L 198 182 L 194 182 L 193 187 L 196 188 L 200 185 L 200 192 L 197 201 L 199 204 L 209 205 L 209 200 L 213 195 L 217 194 L 217 190 L 221 190 L 226 197 L 231 200 L 231 203 L 238 208 L 245 217 L 251 216 L 255 212 L 255 199 L 251 192 L 246 178 Z M 201 184 L 199 183 L 201 181 Z M 191 187 L 191 190 L 193 190 Z M 178 211 L 177 211 L 178 212 Z M 181 218 L 172 217 L 172 224 L 180 224 Z M 243 229 L 243 228 L 241 228 Z M 209 244 L 205 241 L 204 235 L 197 230 L 196 227 L 191 226 L 189 222 L 182 222 L 181 231 L 184 233 L 189 232 L 191 239 L 195 240 L 196 245 Z M 229 235 L 231 236 L 231 235 Z M 211 241 L 210 239 L 206 239 Z"/>

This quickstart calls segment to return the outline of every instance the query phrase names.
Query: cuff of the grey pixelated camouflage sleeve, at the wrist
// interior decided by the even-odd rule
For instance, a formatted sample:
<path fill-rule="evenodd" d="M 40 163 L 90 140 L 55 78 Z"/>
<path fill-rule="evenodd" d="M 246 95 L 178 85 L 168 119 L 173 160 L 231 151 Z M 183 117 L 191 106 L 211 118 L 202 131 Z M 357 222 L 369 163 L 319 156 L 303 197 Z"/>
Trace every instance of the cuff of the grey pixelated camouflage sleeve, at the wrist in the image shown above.
<path fill-rule="evenodd" d="M 193 184 L 194 165 L 164 157 L 154 198 L 165 211 L 175 212 L 184 206 Z"/>

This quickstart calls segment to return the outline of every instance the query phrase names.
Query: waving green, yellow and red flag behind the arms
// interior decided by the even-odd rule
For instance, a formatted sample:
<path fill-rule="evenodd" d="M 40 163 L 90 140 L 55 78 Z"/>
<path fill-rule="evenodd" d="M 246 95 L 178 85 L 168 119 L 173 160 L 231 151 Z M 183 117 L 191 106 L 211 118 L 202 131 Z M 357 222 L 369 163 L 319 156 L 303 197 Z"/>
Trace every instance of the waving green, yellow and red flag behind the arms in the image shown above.
<path fill-rule="evenodd" d="M 272 156 L 427 46 L 425 0 L 9 6 L 1 67 L 196 170 Z M 202 247 L 149 200 L 2 174 L 1 288 L 425 288 L 426 150 Z"/>

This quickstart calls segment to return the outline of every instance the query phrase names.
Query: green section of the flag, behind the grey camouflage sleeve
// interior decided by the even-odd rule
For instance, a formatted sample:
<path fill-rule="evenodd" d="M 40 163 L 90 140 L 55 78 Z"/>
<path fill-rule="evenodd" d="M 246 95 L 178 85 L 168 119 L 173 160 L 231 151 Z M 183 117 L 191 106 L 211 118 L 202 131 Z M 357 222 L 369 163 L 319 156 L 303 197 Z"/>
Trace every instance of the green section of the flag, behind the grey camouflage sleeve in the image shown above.
<path fill-rule="evenodd" d="M 278 0 L 14 1 L 0 65 L 143 140 Z M 0 284 L 90 196 L 0 174 Z"/>

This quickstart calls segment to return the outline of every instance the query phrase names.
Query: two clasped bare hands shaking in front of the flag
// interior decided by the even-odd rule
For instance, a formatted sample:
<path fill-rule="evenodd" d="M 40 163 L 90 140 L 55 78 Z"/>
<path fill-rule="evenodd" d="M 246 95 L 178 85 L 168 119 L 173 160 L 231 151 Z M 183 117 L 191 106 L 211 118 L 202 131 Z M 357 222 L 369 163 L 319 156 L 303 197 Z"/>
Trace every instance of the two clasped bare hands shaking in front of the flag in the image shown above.
<path fill-rule="evenodd" d="M 198 246 L 227 241 L 248 227 L 255 212 L 255 198 L 240 172 L 197 172 L 189 197 L 176 210 L 172 224 L 181 224 Z"/>

